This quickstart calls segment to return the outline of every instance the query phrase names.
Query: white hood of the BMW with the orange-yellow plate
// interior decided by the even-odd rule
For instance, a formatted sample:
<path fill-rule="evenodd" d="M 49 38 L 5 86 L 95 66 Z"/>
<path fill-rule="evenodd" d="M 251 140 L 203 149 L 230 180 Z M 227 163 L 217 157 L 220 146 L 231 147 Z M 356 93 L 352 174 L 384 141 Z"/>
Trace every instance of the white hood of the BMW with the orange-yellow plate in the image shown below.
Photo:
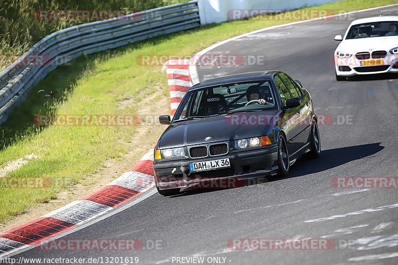
<path fill-rule="evenodd" d="M 373 49 L 373 51 L 384 50 L 389 52 L 391 49 L 397 47 L 398 36 L 350 39 L 343 40 L 337 47 L 336 52 L 340 51 L 355 54 L 357 52 L 369 52 L 370 49 Z"/>

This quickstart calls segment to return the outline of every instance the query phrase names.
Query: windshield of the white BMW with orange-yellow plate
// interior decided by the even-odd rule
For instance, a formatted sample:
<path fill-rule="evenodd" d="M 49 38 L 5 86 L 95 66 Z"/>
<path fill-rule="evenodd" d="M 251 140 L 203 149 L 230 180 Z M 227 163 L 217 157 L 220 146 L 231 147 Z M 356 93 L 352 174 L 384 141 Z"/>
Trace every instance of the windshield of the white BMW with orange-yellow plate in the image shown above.
<path fill-rule="evenodd" d="M 346 39 L 398 36 L 398 21 L 370 22 L 353 25 Z"/>

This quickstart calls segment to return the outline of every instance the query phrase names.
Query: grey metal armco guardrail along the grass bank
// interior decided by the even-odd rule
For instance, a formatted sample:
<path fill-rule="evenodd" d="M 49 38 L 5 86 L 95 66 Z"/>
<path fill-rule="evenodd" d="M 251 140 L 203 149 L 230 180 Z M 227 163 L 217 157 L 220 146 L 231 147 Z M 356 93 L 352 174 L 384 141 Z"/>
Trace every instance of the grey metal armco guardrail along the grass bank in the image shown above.
<path fill-rule="evenodd" d="M 54 32 L 0 73 L 0 124 L 59 62 L 198 26 L 198 0 L 192 0 Z M 32 58 L 40 63 L 25 63 Z"/>

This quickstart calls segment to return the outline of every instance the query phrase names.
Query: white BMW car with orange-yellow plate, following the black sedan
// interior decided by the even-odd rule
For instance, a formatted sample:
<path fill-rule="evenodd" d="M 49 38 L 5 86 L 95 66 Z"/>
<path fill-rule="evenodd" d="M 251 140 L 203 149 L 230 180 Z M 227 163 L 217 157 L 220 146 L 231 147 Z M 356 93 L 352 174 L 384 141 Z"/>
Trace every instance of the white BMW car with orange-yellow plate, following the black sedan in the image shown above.
<path fill-rule="evenodd" d="M 354 20 L 334 52 L 336 80 L 354 75 L 398 73 L 398 16 Z"/>

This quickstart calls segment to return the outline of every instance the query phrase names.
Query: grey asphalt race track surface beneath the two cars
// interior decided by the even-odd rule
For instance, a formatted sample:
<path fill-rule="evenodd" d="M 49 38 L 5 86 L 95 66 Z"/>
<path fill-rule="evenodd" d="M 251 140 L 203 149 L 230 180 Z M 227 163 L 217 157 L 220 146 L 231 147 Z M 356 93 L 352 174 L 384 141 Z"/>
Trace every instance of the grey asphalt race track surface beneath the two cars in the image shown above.
<path fill-rule="evenodd" d="M 13 258 L 139 257 L 139 264 L 172 264 L 172 257 L 202 256 L 224 257 L 225 264 L 397 264 L 397 188 L 339 189 L 331 184 L 334 177 L 398 176 L 398 79 L 337 82 L 332 61 L 338 45 L 333 38 L 352 19 L 397 13 L 394 6 L 249 35 L 210 53 L 265 55 L 264 64 L 199 68 L 201 80 L 266 69 L 299 79 L 311 93 L 316 113 L 330 115 L 336 123 L 319 126 L 321 158 L 300 160 L 289 177 L 268 177 L 265 183 L 174 197 L 156 193 L 64 237 L 161 240 L 160 250 L 31 249 Z M 350 121 L 337 124 L 338 116 Z M 332 250 L 229 249 L 227 241 L 236 238 L 330 238 L 355 244 Z"/>

